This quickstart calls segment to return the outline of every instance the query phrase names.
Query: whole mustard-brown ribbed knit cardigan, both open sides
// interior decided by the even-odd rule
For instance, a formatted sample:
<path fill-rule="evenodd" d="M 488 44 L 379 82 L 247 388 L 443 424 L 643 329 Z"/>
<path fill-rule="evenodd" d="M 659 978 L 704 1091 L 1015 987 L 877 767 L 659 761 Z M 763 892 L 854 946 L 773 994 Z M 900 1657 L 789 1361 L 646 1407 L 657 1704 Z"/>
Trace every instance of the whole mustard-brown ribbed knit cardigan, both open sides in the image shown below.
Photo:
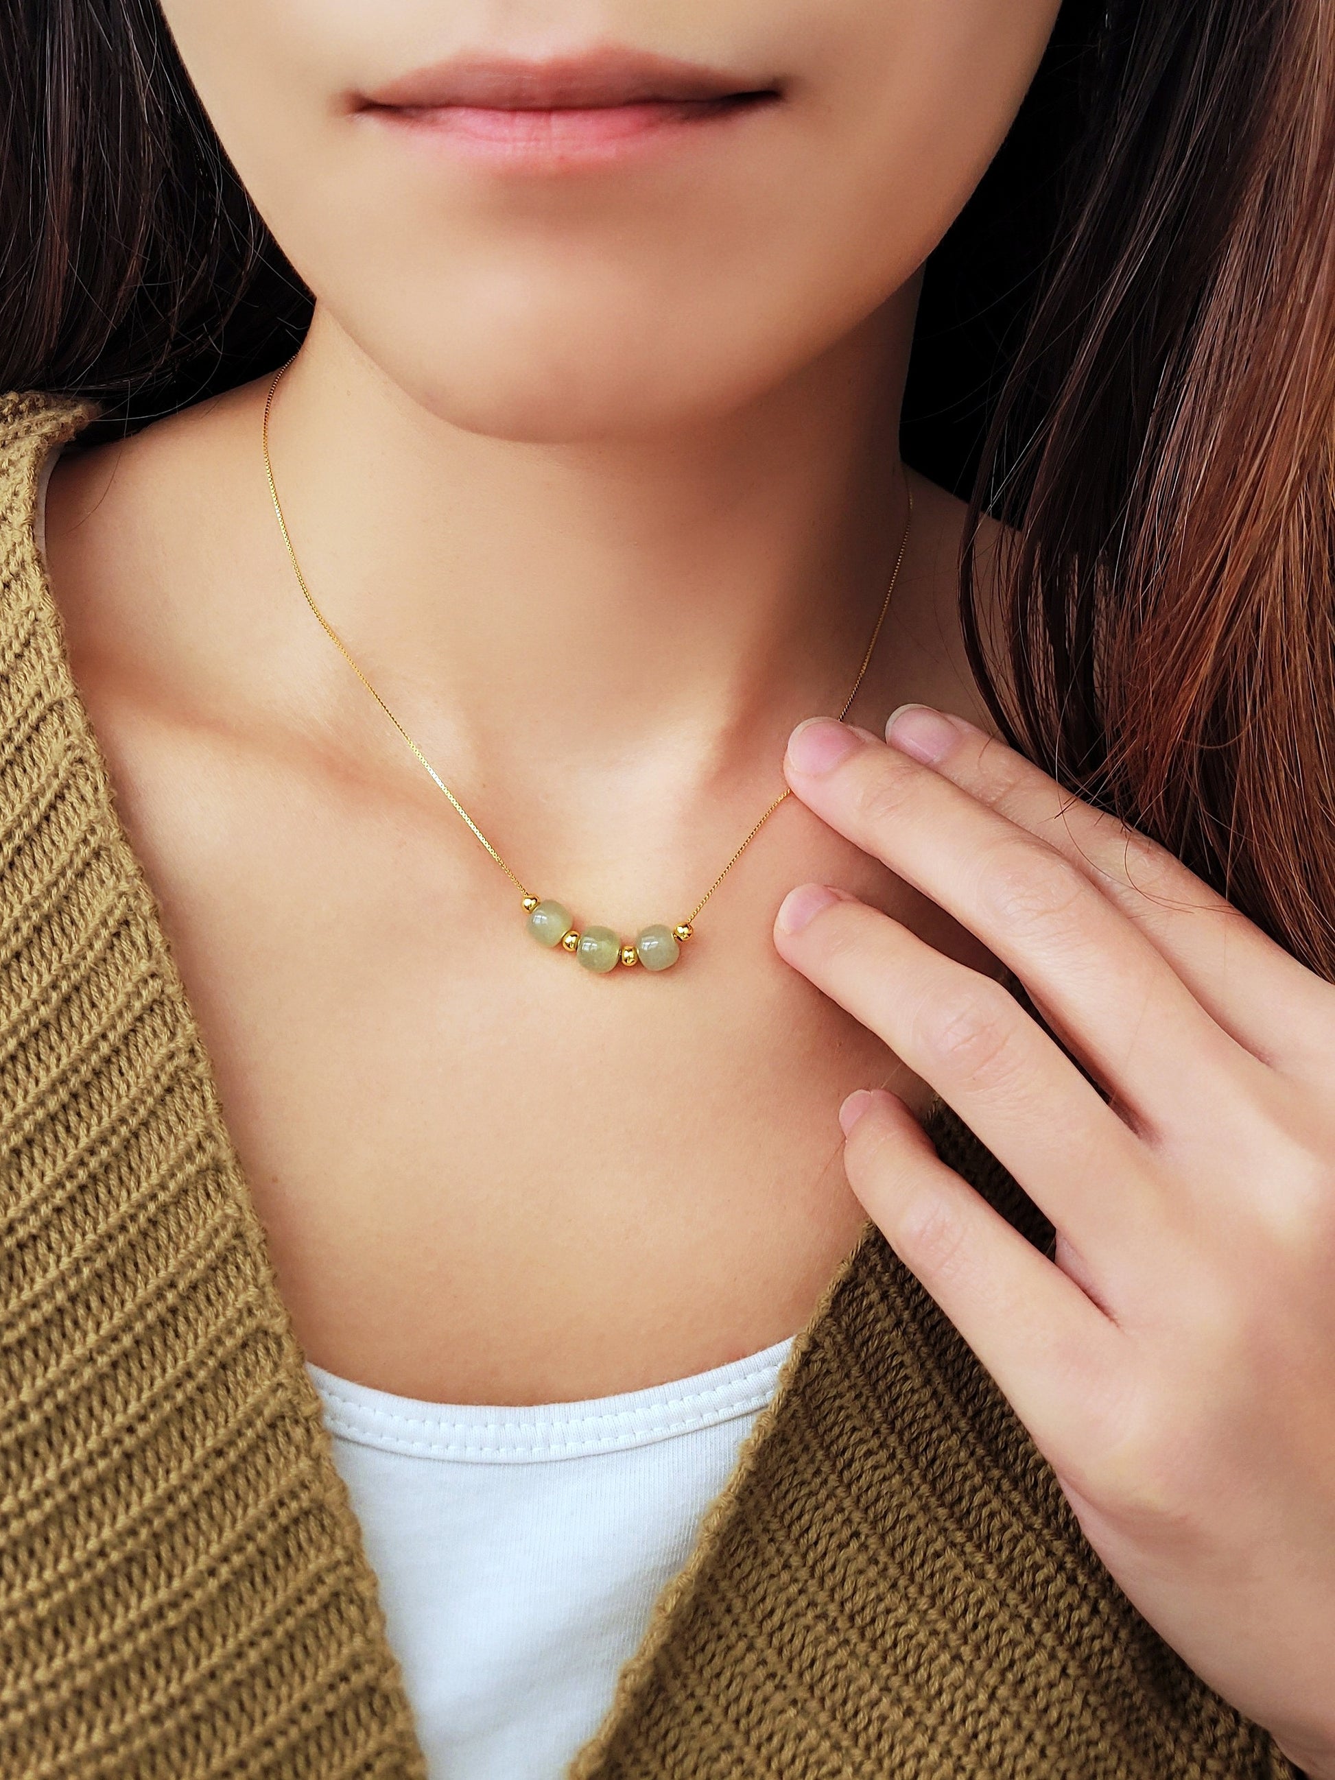
<path fill-rule="evenodd" d="M 376 1577 L 36 539 L 96 413 L 0 399 L 0 1776 L 422 1780 Z M 938 1105 L 933 1136 L 1050 1228 Z M 578 1780 L 1294 1780 L 1084 1541 L 867 1226 Z"/>

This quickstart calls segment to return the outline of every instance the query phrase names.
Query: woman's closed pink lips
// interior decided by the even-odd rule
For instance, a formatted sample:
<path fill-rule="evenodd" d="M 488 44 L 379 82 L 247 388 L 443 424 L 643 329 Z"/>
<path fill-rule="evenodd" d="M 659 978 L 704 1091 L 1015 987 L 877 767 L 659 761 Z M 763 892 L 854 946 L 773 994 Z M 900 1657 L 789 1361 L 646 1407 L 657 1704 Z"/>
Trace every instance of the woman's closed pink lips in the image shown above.
<path fill-rule="evenodd" d="M 541 62 L 456 57 L 376 87 L 354 109 L 482 155 L 571 166 L 778 98 L 778 82 L 609 48 Z"/>

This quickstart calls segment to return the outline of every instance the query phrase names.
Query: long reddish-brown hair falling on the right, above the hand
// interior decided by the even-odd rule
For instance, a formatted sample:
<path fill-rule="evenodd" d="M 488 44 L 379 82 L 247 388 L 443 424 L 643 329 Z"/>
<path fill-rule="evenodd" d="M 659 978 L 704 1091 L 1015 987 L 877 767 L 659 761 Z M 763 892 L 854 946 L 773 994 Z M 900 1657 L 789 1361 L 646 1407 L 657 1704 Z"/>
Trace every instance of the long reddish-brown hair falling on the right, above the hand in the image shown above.
<path fill-rule="evenodd" d="M 1335 5 L 1148 7 L 1102 55 L 970 657 L 1013 740 L 1331 979 Z"/>

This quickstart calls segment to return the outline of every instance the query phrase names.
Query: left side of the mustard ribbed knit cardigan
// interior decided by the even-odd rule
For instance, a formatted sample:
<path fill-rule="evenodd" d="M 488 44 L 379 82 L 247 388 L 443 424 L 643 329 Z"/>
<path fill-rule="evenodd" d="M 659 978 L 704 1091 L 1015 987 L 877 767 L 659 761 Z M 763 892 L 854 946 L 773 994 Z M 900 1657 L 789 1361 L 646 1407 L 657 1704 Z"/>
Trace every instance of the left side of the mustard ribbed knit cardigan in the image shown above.
<path fill-rule="evenodd" d="M 0 408 L 0 1773 L 424 1780 L 34 538 L 94 413 Z"/>

